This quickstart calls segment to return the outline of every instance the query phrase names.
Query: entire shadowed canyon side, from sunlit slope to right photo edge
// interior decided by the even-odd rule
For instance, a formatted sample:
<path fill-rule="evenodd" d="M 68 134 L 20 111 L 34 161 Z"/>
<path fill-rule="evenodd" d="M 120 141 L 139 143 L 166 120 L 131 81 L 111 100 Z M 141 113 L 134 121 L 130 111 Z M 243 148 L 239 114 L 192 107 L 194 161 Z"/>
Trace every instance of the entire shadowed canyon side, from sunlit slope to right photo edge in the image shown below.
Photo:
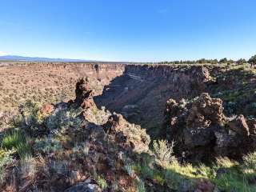
<path fill-rule="evenodd" d="M 222 98 L 226 115 L 255 116 L 255 81 L 250 70 L 229 67 L 129 65 L 94 101 L 98 107 L 106 106 L 106 110 L 146 128 L 152 138 L 159 138 L 166 135 L 163 122 L 169 98 L 190 100 L 208 92 Z"/>

